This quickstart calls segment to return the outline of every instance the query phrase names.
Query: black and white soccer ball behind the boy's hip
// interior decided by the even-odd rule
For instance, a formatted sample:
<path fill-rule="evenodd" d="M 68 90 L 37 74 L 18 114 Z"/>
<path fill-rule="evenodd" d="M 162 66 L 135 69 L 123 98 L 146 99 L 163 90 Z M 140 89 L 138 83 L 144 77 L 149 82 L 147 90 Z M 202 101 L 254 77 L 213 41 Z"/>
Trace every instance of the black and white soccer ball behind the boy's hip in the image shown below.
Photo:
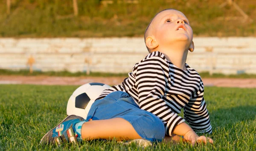
<path fill-rule="evenodd" d="M 102 93 L 110 88 L 103 83 L 87 83 L 77 88 L 67 102 L 67 115 L 81 116 L 86 119 L 91 105 Z"/>

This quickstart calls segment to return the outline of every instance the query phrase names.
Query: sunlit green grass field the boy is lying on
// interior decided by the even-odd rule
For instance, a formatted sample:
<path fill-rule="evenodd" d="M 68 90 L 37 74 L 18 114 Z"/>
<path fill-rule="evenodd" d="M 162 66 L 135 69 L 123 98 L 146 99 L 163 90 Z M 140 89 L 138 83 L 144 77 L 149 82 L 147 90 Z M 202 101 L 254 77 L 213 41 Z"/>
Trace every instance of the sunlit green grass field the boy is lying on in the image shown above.
<path fill-rule="evenodd" d="M 66 117 L 66 105 L 78 86 L 0 85 L 0 150 L 144 150 L 114 141 L 80 145 L 39 145 L 44 134 Z M 256 89 L 206 87 L 214 145 L 159 143 L 155 151 L 255 151 Z"/>

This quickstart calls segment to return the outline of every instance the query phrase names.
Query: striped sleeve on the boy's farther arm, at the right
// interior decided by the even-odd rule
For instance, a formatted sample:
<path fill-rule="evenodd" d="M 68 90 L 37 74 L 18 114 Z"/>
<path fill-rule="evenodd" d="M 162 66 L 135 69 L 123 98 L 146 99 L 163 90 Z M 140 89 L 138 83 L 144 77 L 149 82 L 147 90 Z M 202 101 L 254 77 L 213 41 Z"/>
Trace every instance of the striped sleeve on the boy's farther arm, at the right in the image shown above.
<path fill-rule="evenodd" d="M 184 107 L 184 119 L 191 128 L 198 133 L 212 133 L 209 113 L 204 100 L 204 84 L 200 81 L 200 88 L 195 96 Z"/>

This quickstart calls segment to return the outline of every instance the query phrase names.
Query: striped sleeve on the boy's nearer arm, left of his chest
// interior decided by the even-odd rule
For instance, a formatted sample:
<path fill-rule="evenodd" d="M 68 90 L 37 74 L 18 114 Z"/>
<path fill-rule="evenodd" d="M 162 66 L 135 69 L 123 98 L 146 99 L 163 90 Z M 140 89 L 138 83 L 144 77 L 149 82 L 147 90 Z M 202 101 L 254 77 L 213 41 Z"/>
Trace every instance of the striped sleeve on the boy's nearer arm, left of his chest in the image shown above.
<path fill-rule="evenodd" d="M 134 68 L 140 108 L 159 117 L 171 136 L 176 125 L 185 120 L 162 99 L 169 77 L 169 64 L 160 56 L 151 56 Z"/>

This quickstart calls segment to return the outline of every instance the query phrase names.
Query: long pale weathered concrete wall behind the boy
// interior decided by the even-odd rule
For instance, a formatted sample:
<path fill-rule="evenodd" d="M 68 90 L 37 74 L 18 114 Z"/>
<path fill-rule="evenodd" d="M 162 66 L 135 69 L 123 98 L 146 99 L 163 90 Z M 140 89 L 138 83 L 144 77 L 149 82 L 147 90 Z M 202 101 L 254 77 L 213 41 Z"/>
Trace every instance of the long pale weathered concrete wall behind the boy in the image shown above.
<path fill-rule="evenodd" d="M 256 73 L 256 38 L 194 38 L 187 63 L 211 73 Z M 0 38 L 0 69 L 130 72 L 147 55 L 143 38 Z"/>

